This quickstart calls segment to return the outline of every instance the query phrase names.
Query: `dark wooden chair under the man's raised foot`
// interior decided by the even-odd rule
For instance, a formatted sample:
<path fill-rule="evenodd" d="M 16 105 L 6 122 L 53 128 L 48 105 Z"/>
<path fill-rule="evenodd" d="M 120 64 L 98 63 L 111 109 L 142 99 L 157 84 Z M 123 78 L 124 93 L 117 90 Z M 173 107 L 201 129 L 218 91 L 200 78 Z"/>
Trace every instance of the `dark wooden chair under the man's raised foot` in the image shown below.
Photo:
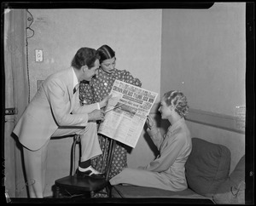
<path fill-rule="evenodd" d="M 101 143 L 101 140 L 99 140 Z M 80 136 L 74 135 L 73 146 L 72 146 L 72 163 L 71 163 L 71 174 L 61 179 L 55 180 L 55 198 L 61 197 L 94 197 L 96 192 L 101 192 L 104 188 L 107 193 L 110 192 L 108 186 L 109 172 L 111 169 L 111 163 L 113 160 L 113 151 L 115 147 L 115 140 L 106 138 L 105 144 L 109 144 L 108 150 L 103 150 L 102 156 L 107 157 L 105 175 L 106 178 L 103 180 L 96 180 L 91 177 L 78 177 L 75 174 L 75 149 L 77 143 L 80 142 Z M 80 145 L 79 145 L 80 146 Z M 100 161 L 98 157 L 96 161 Z M 102 158 L 105 159 L 105 158 Z M 98 163 L 98 162 L 97 162 Z M 100 163 L 100 162 L 99 162 Z"/>

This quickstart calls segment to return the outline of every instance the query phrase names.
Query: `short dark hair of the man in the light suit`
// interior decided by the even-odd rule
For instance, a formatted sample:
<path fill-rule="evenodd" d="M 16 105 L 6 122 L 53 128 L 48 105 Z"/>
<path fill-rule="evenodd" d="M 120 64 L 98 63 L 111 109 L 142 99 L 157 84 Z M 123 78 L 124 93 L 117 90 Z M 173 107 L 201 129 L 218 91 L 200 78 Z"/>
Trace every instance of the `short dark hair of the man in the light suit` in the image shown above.
<path fill-rule="evenodd" d="M 88 66 L 89 69 L 94 66 L 94 63 L 97 60 L 100 60 L 100 55 L 96 49 L 91 48 L 81 48 L 77 51 L 77 54 L 73 57 L 71 66 L 76 69 L 80 69 L 82 66 Z"/>

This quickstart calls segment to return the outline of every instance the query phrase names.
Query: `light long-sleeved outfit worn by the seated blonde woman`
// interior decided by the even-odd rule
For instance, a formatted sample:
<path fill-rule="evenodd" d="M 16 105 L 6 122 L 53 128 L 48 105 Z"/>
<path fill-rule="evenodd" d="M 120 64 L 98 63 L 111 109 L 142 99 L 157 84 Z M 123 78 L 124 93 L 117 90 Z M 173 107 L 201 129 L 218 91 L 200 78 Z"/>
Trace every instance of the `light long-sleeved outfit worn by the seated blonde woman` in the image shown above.
<path fill-rule="evenodd" d="M 156 128 L 147 131 L 160 152 L 158 157 L 145 167 L 123 169 L 119 175 L 109 180 L 110 184 L 125 183 L 174 192 L 187 189 L 184 165 L 192 150 L 192 143 L 184 118 L 170 126 L 164 136 Z"/>

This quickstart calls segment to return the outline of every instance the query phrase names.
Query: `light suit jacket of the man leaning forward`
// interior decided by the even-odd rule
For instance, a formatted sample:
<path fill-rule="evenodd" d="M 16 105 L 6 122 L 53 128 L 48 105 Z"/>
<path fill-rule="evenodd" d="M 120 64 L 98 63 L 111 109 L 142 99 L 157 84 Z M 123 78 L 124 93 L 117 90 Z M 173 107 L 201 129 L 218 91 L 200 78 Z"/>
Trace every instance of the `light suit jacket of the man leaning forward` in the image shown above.
<path fill-rule="evenodd" d="M 85 127 L 88 113 L 98 109 L 97 103 L 80 106 L 79 91 L 73 99 L 72 70 L 69 67 L 45 79 L 26 107 L 13 131 L 23 146 L 38 150 L 61 126 Z"/>

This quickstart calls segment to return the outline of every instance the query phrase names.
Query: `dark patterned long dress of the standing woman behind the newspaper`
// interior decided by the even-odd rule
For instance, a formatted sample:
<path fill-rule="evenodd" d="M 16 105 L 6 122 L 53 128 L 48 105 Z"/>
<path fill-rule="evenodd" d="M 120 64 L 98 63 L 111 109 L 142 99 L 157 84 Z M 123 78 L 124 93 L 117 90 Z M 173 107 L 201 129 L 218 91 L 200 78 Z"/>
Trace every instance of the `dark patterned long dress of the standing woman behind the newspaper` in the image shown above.
<path fill-rule="evenodd" d="M 137 87 L 142 86 L 141 81 L 138 78 L 132 77 L 130 72 L 114 69 L 113 73 L 108 74 L 100 69 L 96 77 L 92 78 L 90 83 L 80 83 L 81 104 L 92 104 L 101 101 L 110 93 L 115 79 L 124 81 L 125 83 L 131 83 Z M 108 149 L 108 142 L 105 144 L 108 137 L 98 134 L 98 138 L 103 152 Z M 128 146 L 125 146 L 119 141 L 116 142 L 109 178 L 118 175 L 123 168 L 127 167 L 127 147 Z M 103 164 L 104 162 L 106 163 L 107 157 L 100 158 L 103 159 Z M 92 160 L 92 166 L 100 172 L 105 172 L 106 165 L 96 165 L 96 160 Z"/>

